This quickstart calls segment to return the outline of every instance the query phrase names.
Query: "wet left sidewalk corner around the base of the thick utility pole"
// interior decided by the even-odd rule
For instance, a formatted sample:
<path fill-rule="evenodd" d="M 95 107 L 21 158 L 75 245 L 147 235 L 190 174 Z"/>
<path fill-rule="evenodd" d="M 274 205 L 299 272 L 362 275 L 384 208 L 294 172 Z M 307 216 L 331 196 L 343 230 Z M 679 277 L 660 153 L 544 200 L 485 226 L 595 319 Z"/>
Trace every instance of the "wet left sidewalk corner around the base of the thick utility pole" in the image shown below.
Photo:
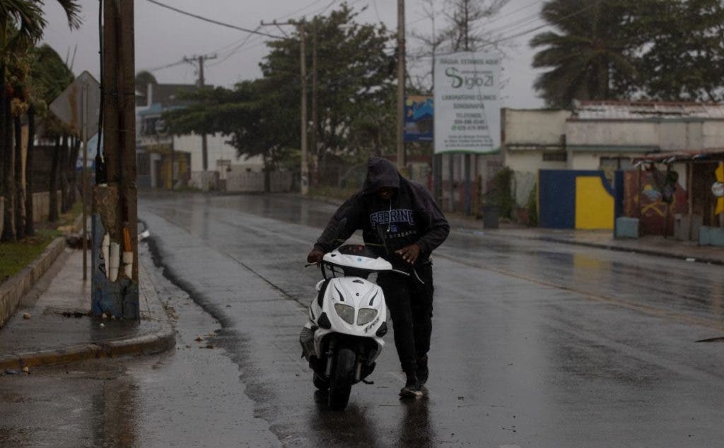
<path fill-rule="evenodd" d="M 171 322 L 139 266 L 140 322 L 88 316 L 83 252 L 65 249 L 0 329 L 0 375 L 35 365 L 151 354 L 175 345 Z"/>

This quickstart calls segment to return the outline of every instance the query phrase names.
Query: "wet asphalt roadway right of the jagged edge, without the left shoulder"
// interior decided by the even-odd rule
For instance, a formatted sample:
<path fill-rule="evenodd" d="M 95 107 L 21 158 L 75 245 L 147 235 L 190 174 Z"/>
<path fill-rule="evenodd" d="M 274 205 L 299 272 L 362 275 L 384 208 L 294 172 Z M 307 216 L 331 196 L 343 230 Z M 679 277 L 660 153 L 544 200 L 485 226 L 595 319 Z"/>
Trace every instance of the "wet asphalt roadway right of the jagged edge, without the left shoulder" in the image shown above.
<path fill-rule="evenodd" d="M 453 229 L 435 257 L 428 396 L 397 399 L 390 345 L 345 413 L 313 401 L 301 267 L 334 206 L 293 196 L 147 198 L 169 274 L 221 322 L 256 415 L 290 446 L 717 446 L 720 267 Z M 181 249 L 182 248 L 182 249 Z M 203 260 L 203 261 L 201 261 Z"/>

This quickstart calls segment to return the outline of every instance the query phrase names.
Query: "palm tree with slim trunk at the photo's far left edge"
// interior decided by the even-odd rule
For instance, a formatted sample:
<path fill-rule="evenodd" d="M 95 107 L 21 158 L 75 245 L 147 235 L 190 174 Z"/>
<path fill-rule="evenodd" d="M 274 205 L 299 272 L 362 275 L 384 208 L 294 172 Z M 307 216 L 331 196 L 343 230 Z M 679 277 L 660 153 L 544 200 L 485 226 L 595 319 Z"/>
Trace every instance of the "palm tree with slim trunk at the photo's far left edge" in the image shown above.
<path fill-rule="evenodd" d="M 56 0 L 63 8 L 70 28 L 80 26 L 80 4 L 77 0 Z M 40 40 L 46 27 L 42 0 L 0 1 L 0 176 L 6 205 L 4 227 L 0 240 L 15 240 L 14 229 L 14 151 L 12 122 L 9 117 L 9 98 L 6 96 L 6 67 L 13 54 L 28 51 L 30 44 Z"/>

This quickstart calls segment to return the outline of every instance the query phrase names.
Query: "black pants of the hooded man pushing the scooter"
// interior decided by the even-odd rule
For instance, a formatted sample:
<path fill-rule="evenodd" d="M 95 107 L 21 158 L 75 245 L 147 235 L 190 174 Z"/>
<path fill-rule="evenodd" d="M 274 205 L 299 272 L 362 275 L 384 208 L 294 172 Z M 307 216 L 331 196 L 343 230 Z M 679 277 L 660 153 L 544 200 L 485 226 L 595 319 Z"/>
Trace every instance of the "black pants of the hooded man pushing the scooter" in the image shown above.
<path fill-rule="evenodd" d="M 416 372 L 416 360 L 430 350 L 432 334 L 432 263 L 419 266 L 416 271 L 419 279 L 415 274 L 407 277 L 384 272 L 377 276 L 392 315 L 397 356 L 408 374 Z"/>

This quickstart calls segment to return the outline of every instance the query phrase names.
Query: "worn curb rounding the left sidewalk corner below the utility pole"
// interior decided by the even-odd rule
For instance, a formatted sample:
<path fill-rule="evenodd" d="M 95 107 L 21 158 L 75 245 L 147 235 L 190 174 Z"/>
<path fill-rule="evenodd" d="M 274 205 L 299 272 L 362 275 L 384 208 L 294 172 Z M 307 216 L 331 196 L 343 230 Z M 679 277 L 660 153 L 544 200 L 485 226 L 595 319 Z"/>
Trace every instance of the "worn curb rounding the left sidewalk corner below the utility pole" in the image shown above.
<path fill-rule="evenodd" d="M 174 331 L 169 316 L 161 305 L 161 300 L 156 295 L 156 289 L 148 279 L 143 265 L 139 266 L 138 274 L 140 292 L 146 296 L 149 313 L 160 317 L 161 329 L 159 331 L 126 339 L 107 339 L 70 347 L 0 356 L 0 371 L 4 371 L 6 368 L 56 365 L 130 355 L 156 355 L 171 350 L 176 346 L 176 331 Z"/>

